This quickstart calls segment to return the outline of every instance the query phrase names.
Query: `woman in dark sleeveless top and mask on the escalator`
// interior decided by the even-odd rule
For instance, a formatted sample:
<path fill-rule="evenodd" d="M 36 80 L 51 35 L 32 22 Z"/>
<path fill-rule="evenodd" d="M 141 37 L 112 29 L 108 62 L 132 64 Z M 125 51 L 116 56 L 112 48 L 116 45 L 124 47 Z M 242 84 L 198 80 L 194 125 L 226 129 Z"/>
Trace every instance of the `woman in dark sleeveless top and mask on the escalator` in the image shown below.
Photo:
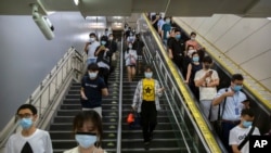
<path fill-rule="evenodd" d="M 197 71 L 203 68 L 203 64 L 199 62 L 197 52 L 192 53 L 192 62 L 188 66 L 185 82 L 189 85 L 191 91 L 194 93 L 197 101 L 199 101 L 199 90 L 195 86 L 194 78 Z"/>

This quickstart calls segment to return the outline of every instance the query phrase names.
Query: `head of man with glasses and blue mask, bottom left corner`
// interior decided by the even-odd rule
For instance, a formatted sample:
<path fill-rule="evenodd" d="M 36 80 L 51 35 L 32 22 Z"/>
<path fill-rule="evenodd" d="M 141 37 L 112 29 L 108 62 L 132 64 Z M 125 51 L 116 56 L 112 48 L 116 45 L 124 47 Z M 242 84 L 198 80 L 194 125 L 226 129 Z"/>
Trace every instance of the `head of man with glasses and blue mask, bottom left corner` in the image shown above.
<path fill-rule="evenodd" d="M 24 130 L 34 126 L 38 117 L 37 113 L 37 109 L 31 104 L 23 104 L 17 109 L 16 119 L 20 120 L 20 125 Z"/>

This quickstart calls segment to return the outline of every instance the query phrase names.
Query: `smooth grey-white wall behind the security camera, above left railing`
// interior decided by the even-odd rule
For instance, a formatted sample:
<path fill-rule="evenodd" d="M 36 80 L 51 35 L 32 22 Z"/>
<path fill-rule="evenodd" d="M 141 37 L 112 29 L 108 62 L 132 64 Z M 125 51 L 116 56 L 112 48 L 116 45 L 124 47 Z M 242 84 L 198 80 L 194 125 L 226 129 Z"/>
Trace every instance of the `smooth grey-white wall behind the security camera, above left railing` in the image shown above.
<path fill-rule="evenodd" d="M 47 40 L 31 16 L 0 16 L 0 129 L 73 46 L 82 51 L 89 29 L 77 12 L 49 15 L 55 38 Z"/>

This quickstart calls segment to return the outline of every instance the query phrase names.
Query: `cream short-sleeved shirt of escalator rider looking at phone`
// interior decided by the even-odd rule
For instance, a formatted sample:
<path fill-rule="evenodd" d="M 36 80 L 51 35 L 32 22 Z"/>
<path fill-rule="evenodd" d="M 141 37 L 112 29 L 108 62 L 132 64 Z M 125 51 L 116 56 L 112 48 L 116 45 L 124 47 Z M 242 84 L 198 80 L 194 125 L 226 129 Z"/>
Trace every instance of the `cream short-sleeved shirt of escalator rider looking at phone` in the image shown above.
<path fill-rule="evenodd" d="M 218 73 L 215 69 L 210 69 L 212 71 L 211 77 L 207 77 L 206 78 L 206 82 L 209 84 L 211 80 L 215 79 L 219 79 L 218 78 Z M 201 78 L 204 77 L 204 75 L 207 73 L 208 71 L 205 69 L 201 69 L 197 71 L 195 74 L 195 78 L 194 80 L 199 80 Z M 199 87 L 199 100 L 212 100 L 217 94 L 217 87 Z"/>

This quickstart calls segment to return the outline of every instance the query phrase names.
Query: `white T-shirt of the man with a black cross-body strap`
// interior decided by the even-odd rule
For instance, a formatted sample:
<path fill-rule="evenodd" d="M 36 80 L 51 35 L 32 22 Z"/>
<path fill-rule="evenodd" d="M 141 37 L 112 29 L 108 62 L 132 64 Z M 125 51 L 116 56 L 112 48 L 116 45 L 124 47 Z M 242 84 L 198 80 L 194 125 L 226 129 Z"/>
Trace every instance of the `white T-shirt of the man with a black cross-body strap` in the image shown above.
<path fill-rule="evenodd" d="M 248 128 L 242 128 L 238 125 L 235 126 L 233 129 L 230 130 L 230 137 L 229 137 L 229 144 L 236 144 L 238 145 L 245 137 L 248 135 L 249 130 L 251 129 L 251 126 Z M 257 127 L 255 127 L 251 135 L 259 136 L 260 131 Z M 249 141 L 245 143 L 245 145 L 241 149 L 242 153 L 249 153 Z"/>

